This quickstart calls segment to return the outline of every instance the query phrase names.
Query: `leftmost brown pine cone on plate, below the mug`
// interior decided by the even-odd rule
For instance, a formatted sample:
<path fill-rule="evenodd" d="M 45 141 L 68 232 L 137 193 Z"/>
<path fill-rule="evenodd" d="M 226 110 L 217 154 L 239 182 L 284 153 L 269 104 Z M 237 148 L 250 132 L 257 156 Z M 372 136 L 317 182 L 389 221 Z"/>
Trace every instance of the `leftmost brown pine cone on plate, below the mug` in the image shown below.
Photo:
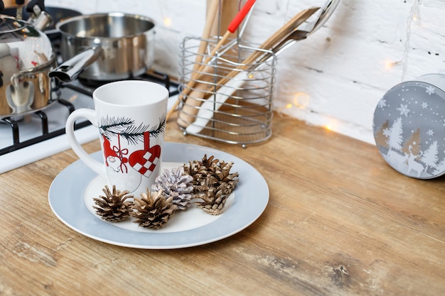
<path fill-rule="evenodd" d="M 119 222 L 127 219 L 129 213 L 132 212 L 133 202 L 127 201 L 128 198 L 133 195 L 127 195 L 128 190 L 121 192 L 113 185 L 113 192 L 109 191 L 109 187 L 105 185 L 102 191 L 105 196 L 99 196 L 99 198 L 93 198 L 97 207 L 95 208 L 96 214 L 101 216 L 102 219 L 110 222 Z"/>

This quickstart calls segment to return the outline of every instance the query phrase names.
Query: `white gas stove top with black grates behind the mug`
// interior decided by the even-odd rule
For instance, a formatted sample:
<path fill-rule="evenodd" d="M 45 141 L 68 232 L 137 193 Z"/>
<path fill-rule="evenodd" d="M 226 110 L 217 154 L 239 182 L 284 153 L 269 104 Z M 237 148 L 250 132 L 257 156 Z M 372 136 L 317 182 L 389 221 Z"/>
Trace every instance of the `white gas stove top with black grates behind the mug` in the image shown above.
<path fill-rule="evenodd" d="M 157 82 L 168 88 L 168 109 L 178 97 L 178 86 L 168 75 L 148 71 L 132 79 Z M 0 119 L 0 174 L 33 163 L 70 148 L 65 136 L 65 122 L 75 109 L 93 109 L 92 92 L 100 84 L 75 80 L 54 83 L 53 103 L 31 114 Z M 89 121 L 76 121 L 79 143 L 98 138 L 97 128 Z"/>

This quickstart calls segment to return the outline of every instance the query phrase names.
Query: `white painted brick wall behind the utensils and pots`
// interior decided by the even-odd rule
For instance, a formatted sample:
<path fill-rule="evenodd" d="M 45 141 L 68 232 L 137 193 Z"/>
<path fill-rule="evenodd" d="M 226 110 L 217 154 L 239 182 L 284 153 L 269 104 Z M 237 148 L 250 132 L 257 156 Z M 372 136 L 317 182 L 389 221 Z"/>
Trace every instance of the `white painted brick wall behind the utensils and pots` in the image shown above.
<path fill-rule="evenodd" d="M 246 40 L 262 43 L 325 0 L 257 0 Z M 205 0 L 47 0 L 82 13 L 124 11 L 156 21 L 156 69 L 178 73 L 178 45 L 200 36 Z M 279 55 L 275 108 L 374 143 L 372 114 L 395 84 L 444 73 L 445 1 L 341 0 L 323 28 Z M 164 23 L 169 19 L 171 23 Z"/>

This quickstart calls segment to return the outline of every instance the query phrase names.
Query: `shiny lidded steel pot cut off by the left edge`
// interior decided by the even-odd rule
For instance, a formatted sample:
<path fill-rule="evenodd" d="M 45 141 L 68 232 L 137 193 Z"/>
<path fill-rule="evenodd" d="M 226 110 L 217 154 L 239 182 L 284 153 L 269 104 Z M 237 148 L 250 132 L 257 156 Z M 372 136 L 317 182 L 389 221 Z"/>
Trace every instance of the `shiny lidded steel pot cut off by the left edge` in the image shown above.
<path fill-rule="evenodd" d="M 56 60 L 50 40 L 42 31 L 51 23 L 43 2 L 29 2 L 28 21 L 19 15 L 0 16 L 0 118 L 26 114 L 50 103 L 48 73 Z"/>

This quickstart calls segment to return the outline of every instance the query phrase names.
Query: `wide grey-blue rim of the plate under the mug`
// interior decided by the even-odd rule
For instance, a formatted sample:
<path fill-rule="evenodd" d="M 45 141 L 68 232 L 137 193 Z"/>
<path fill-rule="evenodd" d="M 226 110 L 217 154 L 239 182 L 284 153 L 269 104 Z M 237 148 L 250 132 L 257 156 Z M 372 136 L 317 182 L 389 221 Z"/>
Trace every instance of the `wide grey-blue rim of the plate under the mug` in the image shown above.
<path fill-rule="evenodd" d="M 237 234 L 253 224 L 266 209 L 269 203 L 269 187 L 267 182 L 264 180 L 264 177 L 245 160 L 222 150 L 195 144 L 165 142 L 163 145 L 162 158 L 165 162 L 188 163 L 189 160 L 194 160 L 184 159 L 187 157 L 186 155 L 190 153 L 196 154 L 196 160 L 203 158 L 204 154 L 210 156 L 209 153 L 211 153 L 211 155 L 215 155 L 215 158 L 220 160 L 234 162 L 232 170 L 240 174 L 240 182 L 235 188 L 234 203 L 227 209 L 227 212 L 225 212 L 223 216 L 210 224 L 195 229 L 163 232 L 159 234 L 129 231 L 113 226 L 92 214 L 85 206 L 83 193 L 90 182 L 97 177 L 97 174 L 90 170 L 90 168 L 87 168 L 82 160 L 76 160 L 74 163 L 68 165 L 59 172 L 53 182 L 51 182 L 48 190 L 48 202 L 51 210 L 63 224 L 90 239 L 128 248 L 173 249 L 201 246 Z M 177 151 L 182 151 L 183 153 L 177 153 Z M 92 153 L 92 156 L 100 160 L 100 151 Z M 178 158 L 182 159 L 178 160 Z M 66 182 L 67 179 L 75 179 L 75 181 Z M 63 190 L 64 186 L 65 194 L 60 194 L 60 190 Z M 63 208 L 66 207 L 68 207 L 69 210 L 67 211 L 65 209 L 65 212 L 63 212 Z M 70 212 L 76 209 L 78 210 L 77 213 Z M 244 215 L 246 212 L 247 216 Z M 75 216 L 75 214 L 79 214 L 81 219 L 78 219 L 79 216 Z M 85 216 L 86 214 L 88 216 Z M 243 215 L 240 216 L 240 214 Z M 232 219 L 234 217 L 237 219 Z M 221 229 L 221 226 L 225 226 L 225 229 Z M 210 231 L 212 233 L 210 233 Z M 168 241 L 172 241 L 172 239 L 177 242 L 168 243 Z M 147 243 L 147 240 L 153 242 Z"/>

